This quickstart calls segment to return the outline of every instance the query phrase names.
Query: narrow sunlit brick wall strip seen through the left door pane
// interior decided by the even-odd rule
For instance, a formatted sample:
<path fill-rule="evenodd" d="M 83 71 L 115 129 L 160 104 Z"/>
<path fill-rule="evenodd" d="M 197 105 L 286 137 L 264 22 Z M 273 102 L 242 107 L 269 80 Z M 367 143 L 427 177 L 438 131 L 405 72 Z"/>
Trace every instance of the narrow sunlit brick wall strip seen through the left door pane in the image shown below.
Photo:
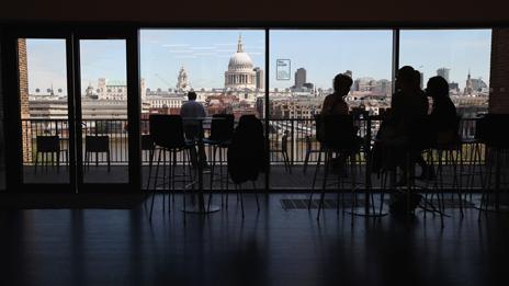
<path fill-rule="evenodd" d="M 32 155 L 32 129 L 29 122 L 23 119 L 30 118 L 29 107 L 29 66 L 26 58 L 26 39 L 18 41 L 18 61 L 20 69 L 20 103 L 21 103 L 21 119 L 23 131 L 23 162 L 31 161 Z"/>

